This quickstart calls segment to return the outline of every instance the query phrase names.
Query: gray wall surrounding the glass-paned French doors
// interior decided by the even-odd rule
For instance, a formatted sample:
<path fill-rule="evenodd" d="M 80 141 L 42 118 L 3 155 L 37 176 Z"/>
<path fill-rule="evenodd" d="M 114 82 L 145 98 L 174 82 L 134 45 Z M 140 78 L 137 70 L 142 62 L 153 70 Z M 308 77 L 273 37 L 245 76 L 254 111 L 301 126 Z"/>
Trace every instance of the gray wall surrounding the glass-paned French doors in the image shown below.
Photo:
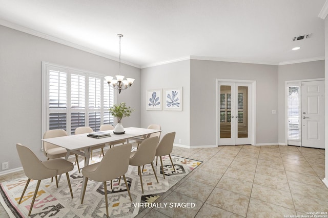
<path fill-rule="evenodd" d="M 216 144 L 216 79 L 256 81 L 256 144 L 278 142 L 277 66 L 191 60 L 190 69 L 191 146 Z"/>

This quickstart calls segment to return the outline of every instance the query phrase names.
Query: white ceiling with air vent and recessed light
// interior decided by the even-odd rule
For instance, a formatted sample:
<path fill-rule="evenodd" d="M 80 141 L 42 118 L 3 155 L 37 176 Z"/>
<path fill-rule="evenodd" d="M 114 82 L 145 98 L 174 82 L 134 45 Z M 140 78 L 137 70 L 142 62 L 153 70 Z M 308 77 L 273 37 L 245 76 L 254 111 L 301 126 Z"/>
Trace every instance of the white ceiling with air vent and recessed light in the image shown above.
<path fill-rule="evenodd" d="M 147 67 L 186 57 L 261 64 L 324 58 L 325 0 L 0 0 L 0 25 Z M 310 38 L 292 41 L 302 34 Z M 300 46 L 298 51 L 292 51 Z"/>

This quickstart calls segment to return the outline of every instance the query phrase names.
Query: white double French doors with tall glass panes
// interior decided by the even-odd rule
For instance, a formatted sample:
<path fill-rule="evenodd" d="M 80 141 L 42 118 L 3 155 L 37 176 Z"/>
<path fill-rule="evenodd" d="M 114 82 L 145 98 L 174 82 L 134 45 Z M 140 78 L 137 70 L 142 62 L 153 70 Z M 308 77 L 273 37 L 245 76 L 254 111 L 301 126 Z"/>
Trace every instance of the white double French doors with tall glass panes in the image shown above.
<path fill-rule="evenodd" d="M 218 83 L 218 145 L 251 144 L 251 83 Z"/>

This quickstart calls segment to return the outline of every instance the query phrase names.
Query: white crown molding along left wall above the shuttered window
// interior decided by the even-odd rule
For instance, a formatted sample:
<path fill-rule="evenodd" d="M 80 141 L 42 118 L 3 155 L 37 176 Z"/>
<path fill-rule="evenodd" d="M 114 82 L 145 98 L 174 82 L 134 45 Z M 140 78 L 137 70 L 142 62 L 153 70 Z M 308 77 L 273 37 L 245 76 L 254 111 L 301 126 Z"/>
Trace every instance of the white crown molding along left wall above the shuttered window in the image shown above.
<path fill-rule="evenodd" d="M 50 40 L 50 41 L 53 41 L 53 42 L 57 42 L 59 44 L 64 44 L 64 45 L 67 45 L 69 47 L 73 47 L 74 49 L 78 49 L 78 50 L 81 50 L 81 51 L 84 51 L 84 52 L 88 52 L 88 53 L 91 53 L 91 54 L 94 54 L 94 55 L 97 55 L 97 56 L 100 56 L 100 57 L 103 57 L 103 58 L 107 58 L 107 59 L 117 61 L 117 62 L 119 61 L 118 58 L 110 56 L 108 54 L 98 52 L 98 51 L 89 49 L 88 47 L 84 47 L 84 46 L 81 46 L 79 44 L 75 44 L 75 43 L 70 42 L 70 41 L 59 39 L 57 37 L 50 36 L 46 33 L 38 32 L 36 30 L 32 30 L 30 28 L 26 28 L 26 27 L 17 25 L 15 23 L 12 23 L 12 22 L 9 22 L 9 21 L 6 21 L 6 20 L 0 19 L 0 25 L 2 25 L 4 27 L 11 28 L 11 29 L 14 29 L 14 30 L 17 30 L 17 31 L 20 31 L 20 32 L 24 32 L 24 33 L 27 33 L 27 34 L 30 34 L 30 35 L 33 35 L 33 36 L 37 36 L 37 37 L 40 37 L 40 38 L 43 38 L 43 39 L 47 39 L 47 40 Z M 140 68 L 139 65 L 128 62 L 128 61 L 121 60 L 121 63 L 130 65 L 130 66 L 133 66 L 133 67 Z"/>

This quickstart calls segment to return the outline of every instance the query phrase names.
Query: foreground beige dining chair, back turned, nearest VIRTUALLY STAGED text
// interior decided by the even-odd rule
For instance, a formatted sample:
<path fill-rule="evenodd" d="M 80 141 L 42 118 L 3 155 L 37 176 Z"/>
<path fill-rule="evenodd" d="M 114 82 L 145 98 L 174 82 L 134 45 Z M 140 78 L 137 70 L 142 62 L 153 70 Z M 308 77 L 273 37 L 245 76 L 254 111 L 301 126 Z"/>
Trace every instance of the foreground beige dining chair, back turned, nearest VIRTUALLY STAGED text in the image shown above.
<path fill-rule="evenodd" d="M 106 213 L 108 217 L 107 181 L 111 180 L 112 184 L 112 180 L 120 176 L 123 176 L 124 178 L 124 182 L 127 187 L 130 200 L 132 201 L 130 189 L 127 183 L 127 179 L 125 177 L 125 174 L 127 173 L 129 168 L 131 149 L 131 143 L 114 147 L 106 152 L 105 156 L 103 157 L 103 159 L 101 159 L 100 162 L 85 166 L 82 169 L 82 174 L 85 177 L 85 185 L 83 187 L 81 204 L 83 204 L 88 179 L 97 182 L 103 182 L 105 188 Z"/>

